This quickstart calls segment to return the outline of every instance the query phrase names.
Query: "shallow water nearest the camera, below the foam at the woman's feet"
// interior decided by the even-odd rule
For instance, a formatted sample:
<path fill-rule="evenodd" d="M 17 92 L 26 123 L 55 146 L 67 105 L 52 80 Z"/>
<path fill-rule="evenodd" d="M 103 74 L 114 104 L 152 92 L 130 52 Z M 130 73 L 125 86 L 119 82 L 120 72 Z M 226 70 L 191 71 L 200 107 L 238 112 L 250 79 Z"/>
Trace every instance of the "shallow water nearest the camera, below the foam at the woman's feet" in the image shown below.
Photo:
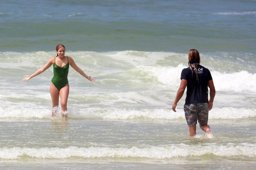
<path fill-rule="evenodd" d="M 190 138 L 181 120 L 2 121 L 1 162 L 3 168 L 21 169 L 252 169 L 254 122 L 211 121 L 215 138 L 208 139 L 202 131 Z"/>

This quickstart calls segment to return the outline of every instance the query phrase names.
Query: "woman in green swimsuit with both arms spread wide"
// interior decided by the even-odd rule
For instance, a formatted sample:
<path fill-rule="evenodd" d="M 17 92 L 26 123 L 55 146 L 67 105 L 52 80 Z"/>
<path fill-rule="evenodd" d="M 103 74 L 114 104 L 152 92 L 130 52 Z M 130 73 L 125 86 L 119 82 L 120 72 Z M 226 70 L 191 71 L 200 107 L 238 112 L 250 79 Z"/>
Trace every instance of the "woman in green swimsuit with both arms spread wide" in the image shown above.
<path fill-rule="evenodd" d="M 45 70 L 47 70 L 51 65 L 53 65 L 53 78 L 50 85 L 50 94 L 52 98 L 52 116 L 55 115 L 54 108 L 59 106 L 59 96 L 61 103 L 61 110 L 63 111 L 64 117 L 67 117 L 67 101 L 69 94 L 69 84 L 68 84 L 68 69 L 69 65 L 73 67 L 78 73 L 87 78 L 90 81 L 95 81 L 91 76 L 87 76 L 83 70 L 81 70 L 74 60 L 65 56 L 65 46 L 59 44 L 56 46 L 57 56 L 52 57 L 49 61 L 40 69 L 38 69 L 32 75 L 25 75 L 22 81 L 28 81 L 29 79 L 41 74 Z"/>

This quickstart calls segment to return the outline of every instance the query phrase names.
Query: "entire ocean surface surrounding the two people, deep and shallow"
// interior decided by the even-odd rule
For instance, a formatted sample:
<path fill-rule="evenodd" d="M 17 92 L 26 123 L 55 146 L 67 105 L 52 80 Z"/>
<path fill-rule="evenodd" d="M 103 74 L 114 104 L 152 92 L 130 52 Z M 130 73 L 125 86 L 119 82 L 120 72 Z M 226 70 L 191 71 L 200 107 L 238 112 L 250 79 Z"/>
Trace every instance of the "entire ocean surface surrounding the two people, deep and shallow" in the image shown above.
<path fill-rule="evenodd" d="M 255 169 L 256 1 L 1 1 L 0 169 Z M 69 69 L 68 118 L 51 116 L 63 43 L 91 75 Z M 216 97 L 215 136 L 189 137 L 171 109 L 197 48 Z"/>

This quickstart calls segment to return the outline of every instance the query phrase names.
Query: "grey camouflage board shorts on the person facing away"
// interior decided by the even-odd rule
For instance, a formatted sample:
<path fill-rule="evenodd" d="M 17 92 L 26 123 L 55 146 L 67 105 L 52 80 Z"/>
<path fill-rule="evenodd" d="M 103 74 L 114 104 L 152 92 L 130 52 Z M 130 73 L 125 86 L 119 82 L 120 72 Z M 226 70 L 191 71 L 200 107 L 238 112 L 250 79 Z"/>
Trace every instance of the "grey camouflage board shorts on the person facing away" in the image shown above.
<path fill-rule="evenodd" d="M 205 125 L 208 123 L 208 103 L 191 103 L 184 105 L 185 118 L 188 126 L 198 123 Z"/>

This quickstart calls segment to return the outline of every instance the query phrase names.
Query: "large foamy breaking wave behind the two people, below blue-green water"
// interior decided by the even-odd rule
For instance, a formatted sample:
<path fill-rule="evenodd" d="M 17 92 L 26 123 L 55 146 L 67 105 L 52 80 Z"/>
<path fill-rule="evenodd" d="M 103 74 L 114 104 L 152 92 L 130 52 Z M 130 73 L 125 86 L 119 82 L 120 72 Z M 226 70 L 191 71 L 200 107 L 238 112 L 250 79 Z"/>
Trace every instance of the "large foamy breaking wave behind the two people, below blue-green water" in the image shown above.
<path fill-rule="evenodd" d="M 147 52 L 147 51 L 67 51 L 68 55 L 74 56 L 76 62 L 85 71 L 93 76 L 101 76 L 95 83 L 104 88 L 108 83 L 112 84 L 137 84 L 147 87 L 149 84 L 160 88 L 177 90 L 180 84 L 180 73 L 187 66 L 187 54 L 174 52 Z M 21 72 L 28 74 L 43 66 L 54 52 L 0 52 L 0 73 L 10 76 L 20 75 Z M 224 55 L 224 54 L 221 54 Z M 227 56 L 226 56 L 227 55 Z M 231 55 L 231 54 L 230 54 Z M 245 55 L 245 54 L 244 54 Z M 33 57 L 33 60 L 31 58 Z M 232 57 L 225 54 L 226 58 Z M 202 65 L 209 68 L 217 91 L 222 92 L 256 92 L 256 74 L 251 73 L 250 67 L 229 60 L 221 60 L 220 57 L 204 56 Z M 211 62 L 207 62 L 210 60 Z M 228 66 L 226 66 L 228 65 Z M 254 64 L 253 64 L 254 65 Z M 234 69 L 237 68 L 237 69 Z M 52 70 L 45 73 L 49 79 Z M 79 76 L 70 71 L 70 82 L 77 81 Z M 1 76 L 2 77 L 2 76 Z M 6 79 L 6 77 L 2 77 Z M 42 79 L 43 77 L 41 77 Z M 33 82 L 31 80 L 30 82 Z M 104 82 L 104 83 L 98 83 Z M 108 82 L 108 83 L 106 83 Z M 102 85 L 102 86 L 101 86 Z"/>

